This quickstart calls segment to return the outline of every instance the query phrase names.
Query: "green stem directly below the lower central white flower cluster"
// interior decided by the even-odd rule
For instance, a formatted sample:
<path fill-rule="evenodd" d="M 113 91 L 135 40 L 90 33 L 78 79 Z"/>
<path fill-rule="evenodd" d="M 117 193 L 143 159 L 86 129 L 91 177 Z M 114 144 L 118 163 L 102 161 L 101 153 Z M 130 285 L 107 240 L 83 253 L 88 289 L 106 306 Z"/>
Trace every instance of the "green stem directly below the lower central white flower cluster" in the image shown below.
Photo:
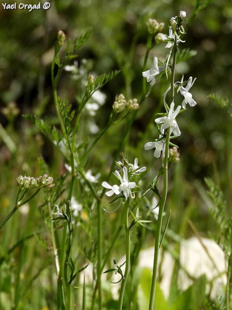
<path fill-rule="evenodd" d="M 129 202 L 130 202 L 130 199 L 127 198 L 127 202 L 123 210 L 124 227 L 125 227 L 125 235 L 126 235 L 126 268 L 125 268 L 125 274 L 122 279 L 122 285 L 121 285 L 121 289 L 119 293 L 118 310 L 122 310 L 123 296 L 124 296 L 125 287 L 127 284 L 127 278 L 128 278 L 129 271 L 130 271 L 131 231 L 128 225 Z"/>

